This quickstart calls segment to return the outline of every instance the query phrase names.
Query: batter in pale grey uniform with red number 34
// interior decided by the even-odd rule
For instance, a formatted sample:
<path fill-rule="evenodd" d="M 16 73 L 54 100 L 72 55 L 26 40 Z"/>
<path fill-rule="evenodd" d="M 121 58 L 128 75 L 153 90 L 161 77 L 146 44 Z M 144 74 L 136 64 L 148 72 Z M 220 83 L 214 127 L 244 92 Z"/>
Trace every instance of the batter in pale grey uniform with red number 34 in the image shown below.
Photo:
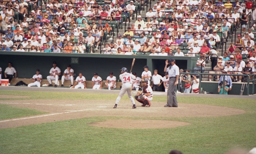
<path fill-rule="evenodd" d="M 116 104 L 114 109 L 116 109 L 118 103 L 120 102 L 121 98 L 124 96 L 125 92 L 127 91 L 127 95 L 130 98 L 133 106 L 132 109 L 136 109 L 135 101 L 132 97 L 132 80 L 135 80 L 136 77 L 131 73 L 127 73 L 126 67 L 123 67 L 121 70 L 121 74 L 119 75 L 120 80 L 122 81 L 122 88 L 118 97 L 116 98 Z"/>

